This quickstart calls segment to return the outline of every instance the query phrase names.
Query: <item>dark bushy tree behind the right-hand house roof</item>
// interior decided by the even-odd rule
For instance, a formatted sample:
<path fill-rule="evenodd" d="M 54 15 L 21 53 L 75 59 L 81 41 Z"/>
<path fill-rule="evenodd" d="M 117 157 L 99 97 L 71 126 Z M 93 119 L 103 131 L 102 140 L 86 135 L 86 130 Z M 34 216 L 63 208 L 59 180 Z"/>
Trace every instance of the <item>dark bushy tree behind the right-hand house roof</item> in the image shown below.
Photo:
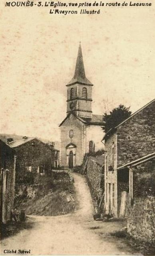
<path fill-rule="evenodd" d="M 102 129 L 106 133 L 111 128 L 114 128 L 129 116 L 131 116 L 131 111 L 129 111 L 130 107 L 127 108 L 124 105 L 120 104 L 117 108 L 114 108 L 110 111 L 109 114 L 103 114 L 103 126 Z"/>

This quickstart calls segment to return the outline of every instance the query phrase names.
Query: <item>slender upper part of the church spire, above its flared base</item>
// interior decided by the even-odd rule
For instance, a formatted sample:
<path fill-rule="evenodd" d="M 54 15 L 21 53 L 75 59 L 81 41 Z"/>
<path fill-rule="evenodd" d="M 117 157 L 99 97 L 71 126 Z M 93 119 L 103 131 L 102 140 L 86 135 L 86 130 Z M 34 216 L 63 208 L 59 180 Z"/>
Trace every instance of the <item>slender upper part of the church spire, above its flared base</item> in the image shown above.
<path fill-rule="evenodd" d="M 81 42 L 79 42 L 78 57 L 76 60 L 76 68 L 74 73 L 74 79 L 78 79 L 78 78 L 85 78 L 85 68 L 83 64 Z"/>

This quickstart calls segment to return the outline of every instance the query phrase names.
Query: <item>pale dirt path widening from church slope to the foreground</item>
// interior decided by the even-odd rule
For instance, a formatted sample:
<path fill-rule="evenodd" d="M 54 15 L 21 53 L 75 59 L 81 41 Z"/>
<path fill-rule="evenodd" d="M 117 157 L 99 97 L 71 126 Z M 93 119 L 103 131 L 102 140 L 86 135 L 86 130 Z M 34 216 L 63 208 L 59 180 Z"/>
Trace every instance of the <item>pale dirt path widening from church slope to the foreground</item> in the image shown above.
<path fill-rule="evenodd" d="M 30 216 L 33 228 L 2 240 L 0 255 L 8 255 L 4 254 L 4 249 L 30 249 L 31 255 L 132 254 L 125 244 L 108 236 L 108 232 L 119 228 L 119 222 L 93 220 L 93 206 L 85 178 L 76 173 L 73 176 L 78 210 L 63 216 Z"/>

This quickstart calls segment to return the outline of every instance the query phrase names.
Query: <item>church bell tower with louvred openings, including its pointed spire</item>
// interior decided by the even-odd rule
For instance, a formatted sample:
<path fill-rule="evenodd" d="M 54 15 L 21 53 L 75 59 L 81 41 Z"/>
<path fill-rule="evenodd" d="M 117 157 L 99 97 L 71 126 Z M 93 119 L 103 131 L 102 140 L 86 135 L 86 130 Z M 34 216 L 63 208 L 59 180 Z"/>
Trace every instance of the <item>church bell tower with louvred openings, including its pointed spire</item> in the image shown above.
<path fill-rule="evenodd" d="M 81 44 L 79 44 L 74 77 L 66 86 L 67 114 L 72 112 L 76 116 L 91 118 L 93 84 L 85 76 Z"/>

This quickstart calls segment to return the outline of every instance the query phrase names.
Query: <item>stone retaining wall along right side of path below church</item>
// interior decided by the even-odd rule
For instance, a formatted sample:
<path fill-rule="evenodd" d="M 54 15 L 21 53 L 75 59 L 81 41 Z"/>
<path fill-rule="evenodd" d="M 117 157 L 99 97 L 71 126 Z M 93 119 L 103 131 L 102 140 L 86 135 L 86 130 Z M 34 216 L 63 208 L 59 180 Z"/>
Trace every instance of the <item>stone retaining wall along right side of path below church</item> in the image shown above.
<path fill-rule="evenodd" d="M 91 156 L 87 162 L 87 179 L 91 188 L 91 195 L 98 204 L 104 191 L 104 170 L 103 166 Z"/>

